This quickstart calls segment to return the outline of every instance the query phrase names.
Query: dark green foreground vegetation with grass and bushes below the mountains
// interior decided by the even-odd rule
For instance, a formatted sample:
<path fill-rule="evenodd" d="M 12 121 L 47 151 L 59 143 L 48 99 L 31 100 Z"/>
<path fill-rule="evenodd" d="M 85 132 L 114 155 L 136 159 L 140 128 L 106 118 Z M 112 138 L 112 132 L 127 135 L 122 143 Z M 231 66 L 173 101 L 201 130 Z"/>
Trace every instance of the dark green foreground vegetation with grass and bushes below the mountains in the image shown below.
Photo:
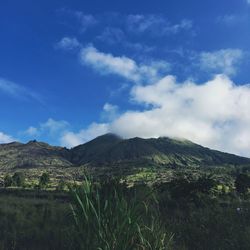
<path fill-rule="evenodd" d="M 48 174 L 36 189 L 10 177 L 0 189 L 0 249 L 250 249 L 246 168 L 141 169 L 57 190 Z"/>

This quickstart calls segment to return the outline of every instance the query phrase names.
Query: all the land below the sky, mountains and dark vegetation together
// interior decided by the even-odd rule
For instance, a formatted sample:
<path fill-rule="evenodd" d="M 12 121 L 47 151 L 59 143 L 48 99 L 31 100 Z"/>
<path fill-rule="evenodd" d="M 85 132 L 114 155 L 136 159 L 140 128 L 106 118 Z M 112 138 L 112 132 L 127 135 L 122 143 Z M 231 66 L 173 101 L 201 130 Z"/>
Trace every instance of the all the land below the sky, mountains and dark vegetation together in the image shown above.
<path fill-rule="evenodd" d="M 250 160 L 187 140 L 3 144 L 0 180 L 0 249 L 250 248 Z"/>

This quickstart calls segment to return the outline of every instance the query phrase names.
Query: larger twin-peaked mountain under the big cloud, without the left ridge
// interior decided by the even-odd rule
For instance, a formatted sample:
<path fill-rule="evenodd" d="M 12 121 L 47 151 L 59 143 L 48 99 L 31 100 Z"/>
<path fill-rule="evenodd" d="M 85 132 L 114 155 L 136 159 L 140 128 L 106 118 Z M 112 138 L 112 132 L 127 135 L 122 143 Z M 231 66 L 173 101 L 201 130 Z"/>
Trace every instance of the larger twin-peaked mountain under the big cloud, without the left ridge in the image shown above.
<path fill-rule="evenodd" d="M 131 166 L 245 165 L 250 159 L 211 150 L 188 140 L 122 139 L 106 134 L 71 150 L 74 164 Z"/>

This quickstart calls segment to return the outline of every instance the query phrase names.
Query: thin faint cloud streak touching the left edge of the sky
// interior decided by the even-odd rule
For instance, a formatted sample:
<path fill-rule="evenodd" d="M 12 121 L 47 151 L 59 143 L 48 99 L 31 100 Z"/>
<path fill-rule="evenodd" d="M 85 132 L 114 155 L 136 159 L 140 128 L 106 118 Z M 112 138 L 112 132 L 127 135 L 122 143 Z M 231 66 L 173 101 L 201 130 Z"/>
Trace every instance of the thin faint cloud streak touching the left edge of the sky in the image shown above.
<path fill-rule="evenodd" d="M 33 99 L 42 103 L 42 99 L 37 93 L 4 78 L 0 78 L 0 92 L 3 92 L 16 99 Z"/>

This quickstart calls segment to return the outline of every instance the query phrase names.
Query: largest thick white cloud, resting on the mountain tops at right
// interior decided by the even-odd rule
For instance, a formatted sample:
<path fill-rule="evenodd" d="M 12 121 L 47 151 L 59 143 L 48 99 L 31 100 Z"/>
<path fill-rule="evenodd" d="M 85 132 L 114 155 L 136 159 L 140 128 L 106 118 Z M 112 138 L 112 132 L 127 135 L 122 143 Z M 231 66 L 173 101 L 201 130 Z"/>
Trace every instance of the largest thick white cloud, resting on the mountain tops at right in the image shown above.
<path fill-rule="evenodd" d="M 186 138 L 203 146 L 250 156 L 250 84 L 236 85 L 217 75 L 203 84 L 178 83 L 173 76 L 136 85 L 131 97 L 142 111 L 127 111 L 109 123 L 93 123 L 78 133 L 67 132 L 63 145 L 75 146 L 94 137 L 117 133 L 131 137 Z M 106 105 L 112 110 L 112 106 Z"/>

